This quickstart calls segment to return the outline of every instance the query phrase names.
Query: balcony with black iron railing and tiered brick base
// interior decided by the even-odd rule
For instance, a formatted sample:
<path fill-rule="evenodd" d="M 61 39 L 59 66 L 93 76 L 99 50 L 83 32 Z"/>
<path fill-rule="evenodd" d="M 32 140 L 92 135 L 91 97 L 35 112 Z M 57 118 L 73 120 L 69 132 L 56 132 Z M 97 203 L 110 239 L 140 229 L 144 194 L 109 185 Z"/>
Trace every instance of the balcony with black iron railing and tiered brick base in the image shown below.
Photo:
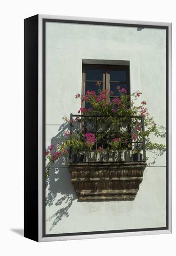
<path fill-rule="evenodd" d="M 146 167 L 143 132 L 143 116 L 71 114 L 71 136 L 85 145 L 69 152 L 79 201 L 135 199 Z M 86 147 L 87 134 L 96 138 L 91 147 Z"/>

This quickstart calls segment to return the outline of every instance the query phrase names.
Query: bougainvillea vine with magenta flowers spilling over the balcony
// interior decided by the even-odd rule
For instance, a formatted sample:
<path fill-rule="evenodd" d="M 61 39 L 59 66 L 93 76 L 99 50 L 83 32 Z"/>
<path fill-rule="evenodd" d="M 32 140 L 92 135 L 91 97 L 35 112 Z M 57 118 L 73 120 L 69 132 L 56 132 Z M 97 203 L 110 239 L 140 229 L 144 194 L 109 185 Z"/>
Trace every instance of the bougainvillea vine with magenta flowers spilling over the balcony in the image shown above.
<path fill-rule="evenodd" d="M 131 149 L 131 141 L 143 141 L 145 138 L 146 141 L 146 150 L 163 152 L 166 150 L 164 144 L 153 143 L 150 141 L 150 134 L 155 135 L 156 137 L 163 138 L 165 135 L 165 128 L 159 126 L 154 121 L 153 117 L 149 117 L 148 109 L 146 108 L 147 102 L 141 101 L 140 105 L 137 105 L 138 98 L 142 93 L 138 90 L 132 94 L 127 94 L 126 88 L 117 86 L 117 95 L 113 96 L 113 92 L 108 90 L 101 90 L 101 82 L 97 82 L 98 94 L 95 91 L 87 90 L 85 95 L 81 97 L 81 94 L 76 94 L 75 98 L 80 98 L 84 103 L 91 104 L 91 108 L 81 107 L 78 109 L 78 114 L 81 115 L 100 115 L 104 116 L 103 122 L 109 123 L 109 130 L 106 130 L 102 133 L 95 134 L 89 132 L 86 128 L 82 129 L 79 137 L 76 133 L 71 134 L 70 131 L 66 131 L 63 135 L 65 141 L 58 143 L 56 145 L 50 145 L 45 152 L 46 160 L 48 160 L 48 172 L 49 168 L 54 162 L 57 162 L 60 157 L 68 155 L 68 149 L 72 147 L 72 150 L 76 153 L 83 150 L 94 150 L 97 145 L 101 145 L 104 141 L 104 145 L 98 146 L 97 151 L 108 151 L 108 150 L 128 150 Z M 108 119 L 106 118 L 108 116 Z M 119 116 L 124 116 L 119 119 Z M 128 117 L 130 116 L 143 116 L 145 131 L 142 129 L 142 125 L 137 118 L 131 120 L 129 123 Z M 71 126 L 74 126 L 75 122 L 84 123 L 85 119 L 82 116 L 77 116 L 76 118 L 69 119 L 66 116 L 63 117 L 63 120 L 66 123 L 70 123 Z M 88 119 L 91 122 L 91 117 Z M 98 124 L 102 121 L 101 117 L 97 118 Z M 97 125 L 98 125 L 97 124 Z M 126 124 L 125 131 L 124 124 Z M 118 128 L 118 131 L 114 131 L 114 128 Z M 123 132 L 122 132 L 123 131 Z M 137 152 L 140 152 L 141 147 L 137 145 Z"/>

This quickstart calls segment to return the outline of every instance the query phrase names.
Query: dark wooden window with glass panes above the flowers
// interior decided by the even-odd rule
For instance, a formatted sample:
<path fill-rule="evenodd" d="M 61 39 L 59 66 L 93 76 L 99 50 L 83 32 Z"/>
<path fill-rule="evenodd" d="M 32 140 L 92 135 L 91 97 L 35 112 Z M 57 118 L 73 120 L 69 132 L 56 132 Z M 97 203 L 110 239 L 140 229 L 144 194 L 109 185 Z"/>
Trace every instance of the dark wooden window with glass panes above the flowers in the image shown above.
<path fill-rule="evenodd" d="M 97 86 L 97 82 L 101 82 L 100 86 Z M 83 64 L 82 96 L 87 90 L 98 94 L 98 88 L 100 88 L 112 91 L 110 99 L 113 100 L 114 97 L 119 96 L 117 86 L 125 88 L 127 94 L 130 94 L 129 66 Z M 91 108 L 91 105 L 82 102 L 82 108 L 84 107 Z"/>

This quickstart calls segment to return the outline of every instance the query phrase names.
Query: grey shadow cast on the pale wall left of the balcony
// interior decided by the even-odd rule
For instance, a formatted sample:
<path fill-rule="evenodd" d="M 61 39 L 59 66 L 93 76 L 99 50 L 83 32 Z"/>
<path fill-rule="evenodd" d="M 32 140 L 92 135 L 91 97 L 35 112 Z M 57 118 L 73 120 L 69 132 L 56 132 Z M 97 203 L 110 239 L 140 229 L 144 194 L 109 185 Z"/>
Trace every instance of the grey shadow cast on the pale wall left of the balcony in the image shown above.
<path fill-rule="evenodd" d="M 52 138 L 51 144 L 65 141 L 64 133 L 67 128 L 69 128 L 69 124 L 62 124 L 58 134 Z M 50 231 L 63 217 L 69 216 L 69 208 L 72 206 L 73 200 L 77 199 L 71 183 L 70 172 L 67 169 L 68 161 L 68 157 L 60 158 L 53 164 L 49 178 L 46 179 L 46 206 L 51 207 L 54 204 L 58 209 L 46 220 L 46 222 L 52 222 Z"/>

